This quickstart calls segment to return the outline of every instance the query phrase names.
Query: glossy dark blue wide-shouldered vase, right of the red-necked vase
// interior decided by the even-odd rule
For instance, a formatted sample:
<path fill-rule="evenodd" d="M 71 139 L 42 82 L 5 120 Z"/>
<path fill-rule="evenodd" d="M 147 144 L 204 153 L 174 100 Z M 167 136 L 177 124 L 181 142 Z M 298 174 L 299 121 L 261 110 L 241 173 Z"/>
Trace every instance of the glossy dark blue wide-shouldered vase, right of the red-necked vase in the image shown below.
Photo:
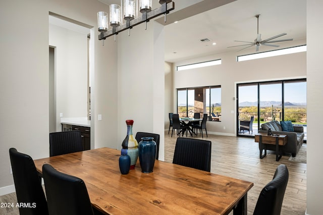
<path fill-rule="evenodd" d="M 151 173 L 156 159 L 156 142 L 152 137 L 143 137 L 138 143 L 141 172 Z"/>

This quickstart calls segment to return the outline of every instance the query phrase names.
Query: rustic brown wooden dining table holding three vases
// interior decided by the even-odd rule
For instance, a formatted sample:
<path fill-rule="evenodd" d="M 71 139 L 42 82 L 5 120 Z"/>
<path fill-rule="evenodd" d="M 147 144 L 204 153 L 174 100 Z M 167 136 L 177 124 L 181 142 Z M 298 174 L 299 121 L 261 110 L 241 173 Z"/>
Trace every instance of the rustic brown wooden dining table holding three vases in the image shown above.
<path fill-rule="evenodd" d="M 253 183 L 155 160 L 153 172 L 139 161 L 129 174 L 119 170 L 120 150 L 98 148 L 34 160 L 50 164 L 86 184 L 92 206 L 105 214 L 247 214 Z"/>

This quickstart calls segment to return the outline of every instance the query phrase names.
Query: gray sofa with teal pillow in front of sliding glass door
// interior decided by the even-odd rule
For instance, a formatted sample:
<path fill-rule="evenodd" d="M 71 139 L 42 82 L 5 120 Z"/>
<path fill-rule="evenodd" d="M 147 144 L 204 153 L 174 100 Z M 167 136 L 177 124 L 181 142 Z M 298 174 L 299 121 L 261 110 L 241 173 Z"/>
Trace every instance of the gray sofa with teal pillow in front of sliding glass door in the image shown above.
<path fill-rule="evenodd" d="M 261 125 L 258 133 L 267 133 L 268 129 L 271 128 L 273 134 L 286 134 L 287 143 L 284 146 L 280 146 L 282 152 L 292 153 L 292 156 L 295 157 L 296 153 L 300 149 L 304 141 L 304 130 L 302 126 L 293 126 L 294 132 L 283 131 L 280 122 L 272 121 L 267 122 Z M 266 144 L 268 150 L 276 150 L 275 145 Z"/>

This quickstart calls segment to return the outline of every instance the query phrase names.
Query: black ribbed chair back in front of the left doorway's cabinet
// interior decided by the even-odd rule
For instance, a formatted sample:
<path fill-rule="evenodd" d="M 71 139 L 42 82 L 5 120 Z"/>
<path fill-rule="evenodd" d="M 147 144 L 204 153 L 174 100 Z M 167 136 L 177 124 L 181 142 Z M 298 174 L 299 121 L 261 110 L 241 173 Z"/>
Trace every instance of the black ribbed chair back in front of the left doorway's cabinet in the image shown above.
<path fill-rule="evenodd" d="M 49 133 L 49 156 L 83 151 L 81 131 Z"/>

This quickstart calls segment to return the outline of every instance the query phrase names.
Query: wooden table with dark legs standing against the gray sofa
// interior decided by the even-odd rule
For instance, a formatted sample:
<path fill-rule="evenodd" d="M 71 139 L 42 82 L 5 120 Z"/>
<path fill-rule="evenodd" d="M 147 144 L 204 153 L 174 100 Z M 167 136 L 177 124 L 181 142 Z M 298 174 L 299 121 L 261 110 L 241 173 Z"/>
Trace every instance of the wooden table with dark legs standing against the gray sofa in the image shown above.
<path fill-rule="evenodd" d="M 260 159 L 267 154 L 266 144 L 276 145 L 276 161 L 279 161 L 282 157 L 282 153 L 279 153 L 279 146 L 287 143 L 287 135 L 267 135 L 266 133 L 257 133 L 254 135 L 254 141 L 259 143 Z M 262 145 L 264 145 L 264 148 L 262 148 Z M 264 150 L 264 154 L 262 154 L 262 150 Z"/>

